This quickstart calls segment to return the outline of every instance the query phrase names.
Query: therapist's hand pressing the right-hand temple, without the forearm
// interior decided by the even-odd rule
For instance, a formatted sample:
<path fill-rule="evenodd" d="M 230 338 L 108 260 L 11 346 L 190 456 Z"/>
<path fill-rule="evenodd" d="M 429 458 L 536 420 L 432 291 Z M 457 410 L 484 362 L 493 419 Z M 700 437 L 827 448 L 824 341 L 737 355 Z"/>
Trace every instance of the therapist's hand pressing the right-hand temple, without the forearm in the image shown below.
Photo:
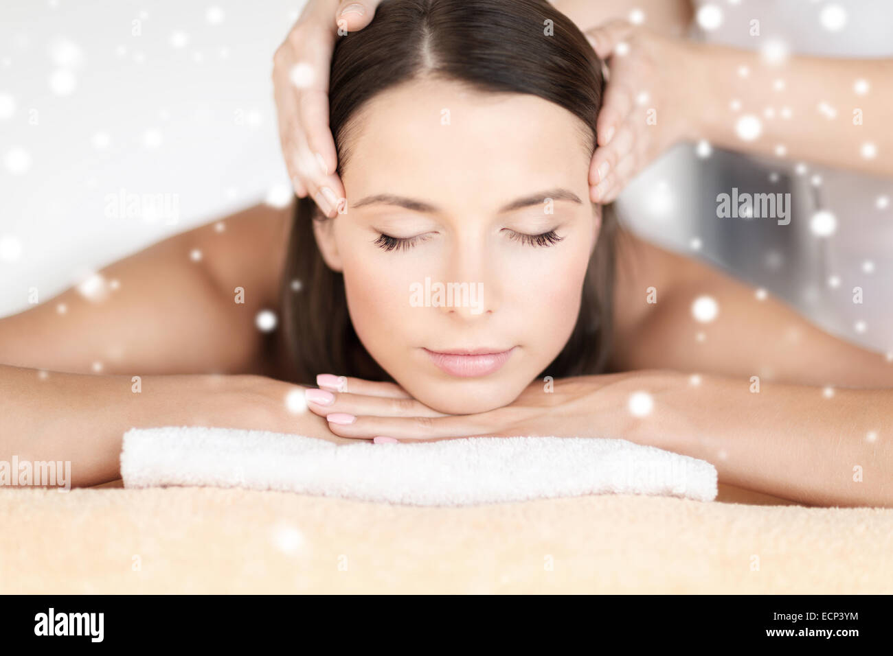
<path fill-rule="evenodd" d="M 689 118 L 695 112 L 686 107 L 697 106 L 700 80 L 689 46 L 679 39 L 658 37 L 626 21 L 586 34 L 610 72 L 589 168 L 590 197 L 611 203 L 664 150 L 695 138 Z"/>

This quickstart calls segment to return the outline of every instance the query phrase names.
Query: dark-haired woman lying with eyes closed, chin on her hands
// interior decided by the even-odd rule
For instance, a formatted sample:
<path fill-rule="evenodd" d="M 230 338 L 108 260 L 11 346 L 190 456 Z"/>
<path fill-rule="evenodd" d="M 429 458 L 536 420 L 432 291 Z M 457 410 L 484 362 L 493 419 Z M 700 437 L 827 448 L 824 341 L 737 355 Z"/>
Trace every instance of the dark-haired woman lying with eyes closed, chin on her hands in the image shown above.
<path fill-rule="evenodd" d="M 889 357 L 593 203 L 601 62 L 546 2 L 513 4 L 395 0 L 338 40 L 330 215 L 253 207 L 104 268 L 107 294 L 0 320 L 0 460 L 91 486 L 131 427 L 588 436 L 893 506 Z"/>

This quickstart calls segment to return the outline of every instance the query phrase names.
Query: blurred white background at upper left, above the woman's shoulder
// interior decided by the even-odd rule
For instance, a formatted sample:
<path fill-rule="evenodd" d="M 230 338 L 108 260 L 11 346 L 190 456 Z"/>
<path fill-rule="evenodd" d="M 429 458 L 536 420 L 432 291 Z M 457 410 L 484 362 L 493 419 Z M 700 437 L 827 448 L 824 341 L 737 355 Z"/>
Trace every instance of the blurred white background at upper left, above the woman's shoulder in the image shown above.
<path fill-rule="evenodd" d="M 0 316 L 171 234 L 288 198 L 272 54 L 302 0 L 0 3 Z M 167 212 L 107 207 L 164 195 Z M 154 213 L 154 216 L 153 216 Z"/>

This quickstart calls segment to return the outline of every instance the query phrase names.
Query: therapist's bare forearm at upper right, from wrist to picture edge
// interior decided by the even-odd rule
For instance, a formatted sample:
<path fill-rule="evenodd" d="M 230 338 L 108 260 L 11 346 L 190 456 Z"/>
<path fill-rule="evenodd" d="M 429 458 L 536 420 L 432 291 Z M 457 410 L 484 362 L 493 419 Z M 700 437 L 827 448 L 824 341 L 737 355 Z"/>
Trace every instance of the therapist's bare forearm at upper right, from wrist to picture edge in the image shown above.
<path fill-rule="evenodd" d="M 773 64 L 757 52 L 684 47 L 690 67 L 683 75 L 694 85 L 686 102 L 693 114 L 689 137 L 793 162 L 893 174 L 893 60 L 795 56 Z"/>

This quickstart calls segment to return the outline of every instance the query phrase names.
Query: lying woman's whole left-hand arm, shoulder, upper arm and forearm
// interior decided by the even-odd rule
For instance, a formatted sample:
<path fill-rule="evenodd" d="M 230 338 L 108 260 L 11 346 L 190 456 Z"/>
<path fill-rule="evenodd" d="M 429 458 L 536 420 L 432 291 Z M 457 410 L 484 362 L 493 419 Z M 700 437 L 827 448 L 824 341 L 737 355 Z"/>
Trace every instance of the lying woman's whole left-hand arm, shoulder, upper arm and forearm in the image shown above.
<path fill-rule="evenodd" d="M 119 477 L 133 427 L 337 440 L 324 419 L 288 411 L 301 387 L 213 375 L 261 368 L 255 315 L 276 308 L 289 226 L 290 208 L 257 206 L 105 267 L 86 296 L 72 288 L 0 320 L 0 461 L 68 461 L 71 484 L 91 486 Z"/>

